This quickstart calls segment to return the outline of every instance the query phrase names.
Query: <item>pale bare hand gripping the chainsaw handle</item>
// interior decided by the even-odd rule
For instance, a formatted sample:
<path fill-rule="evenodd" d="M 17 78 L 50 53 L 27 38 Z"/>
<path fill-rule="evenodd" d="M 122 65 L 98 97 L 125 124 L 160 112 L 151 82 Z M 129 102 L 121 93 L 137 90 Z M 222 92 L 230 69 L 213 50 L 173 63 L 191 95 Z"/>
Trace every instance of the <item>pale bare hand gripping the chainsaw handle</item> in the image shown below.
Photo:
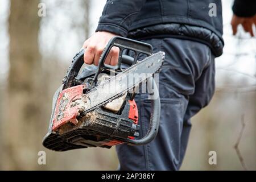
<path fill-rule="evenodd" d="M 84 62 L 86 64 L 98 65 L 101 53 L 108 44 L 109 40 L 117 36 L 110 32 L 96 32 L 89 39 L 85 40 L 84 45 Z M 118 62 L 119 48 L 112 47 L 109 55 L 106 57 L 105 64 L 116 65 Z"/>

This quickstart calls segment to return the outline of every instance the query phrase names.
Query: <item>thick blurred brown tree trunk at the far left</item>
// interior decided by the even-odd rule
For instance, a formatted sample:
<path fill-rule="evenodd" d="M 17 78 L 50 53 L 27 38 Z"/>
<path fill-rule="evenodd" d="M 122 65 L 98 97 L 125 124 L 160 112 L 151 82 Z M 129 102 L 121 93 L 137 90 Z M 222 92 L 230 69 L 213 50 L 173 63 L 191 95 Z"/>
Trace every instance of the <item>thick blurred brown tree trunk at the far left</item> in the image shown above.
<path fill-rule="evenodd" d="M 39 0 L 11 0 L 10 71 L 5 121 L 4 169 L 36 169 L 42 136 L 41 56 L 38 48 Z"/>

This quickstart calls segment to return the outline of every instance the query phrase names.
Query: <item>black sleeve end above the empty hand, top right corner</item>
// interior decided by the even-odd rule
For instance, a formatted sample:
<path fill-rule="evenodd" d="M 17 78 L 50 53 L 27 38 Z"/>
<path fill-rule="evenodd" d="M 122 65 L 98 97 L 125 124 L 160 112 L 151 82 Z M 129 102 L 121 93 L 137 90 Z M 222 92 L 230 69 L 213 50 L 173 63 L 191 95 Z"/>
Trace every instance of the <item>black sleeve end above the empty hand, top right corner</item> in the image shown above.
<path fill-rule="evenodd" d="M 256 13 L 255 0 L 235 0 L 232 10 L 235 15 L 240 17 L 250 17 Z"/>

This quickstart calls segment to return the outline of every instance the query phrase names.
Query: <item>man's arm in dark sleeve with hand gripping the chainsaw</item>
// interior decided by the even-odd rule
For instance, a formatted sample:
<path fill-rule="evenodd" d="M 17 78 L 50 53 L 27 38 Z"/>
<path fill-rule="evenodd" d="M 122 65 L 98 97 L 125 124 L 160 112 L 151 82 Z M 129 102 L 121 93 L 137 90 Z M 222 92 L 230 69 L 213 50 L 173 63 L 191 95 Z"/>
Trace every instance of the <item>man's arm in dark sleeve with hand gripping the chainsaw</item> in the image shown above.
<path fill-rule="evenodd" d="M 98 65 L 101 53 L 113 36 L 127 36 L 129 28 L 146 0 L 108 0 L 98 22 L 96 33 L 85 40 L 84 61 L 86 64 Z M 119 49 L 113 47 L 105 63 L 117 64 Z"/>

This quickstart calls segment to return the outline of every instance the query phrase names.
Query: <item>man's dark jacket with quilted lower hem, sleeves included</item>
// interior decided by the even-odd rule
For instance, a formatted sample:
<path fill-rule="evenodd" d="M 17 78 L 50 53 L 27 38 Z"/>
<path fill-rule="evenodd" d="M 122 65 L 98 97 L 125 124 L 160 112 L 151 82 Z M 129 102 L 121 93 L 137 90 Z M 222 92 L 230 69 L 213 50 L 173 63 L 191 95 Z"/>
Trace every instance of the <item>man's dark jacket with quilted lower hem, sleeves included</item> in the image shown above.
<path fill-rule="evenodd" d="M 250 1 L 236 0 L 233 10 L 248 13 L 240 10 L 245 3 Z M 96 31 L 134 39 L 192 39 L 210 46 L 216 56 L 224 47 L 220 0 L 108 0 Z"/>

